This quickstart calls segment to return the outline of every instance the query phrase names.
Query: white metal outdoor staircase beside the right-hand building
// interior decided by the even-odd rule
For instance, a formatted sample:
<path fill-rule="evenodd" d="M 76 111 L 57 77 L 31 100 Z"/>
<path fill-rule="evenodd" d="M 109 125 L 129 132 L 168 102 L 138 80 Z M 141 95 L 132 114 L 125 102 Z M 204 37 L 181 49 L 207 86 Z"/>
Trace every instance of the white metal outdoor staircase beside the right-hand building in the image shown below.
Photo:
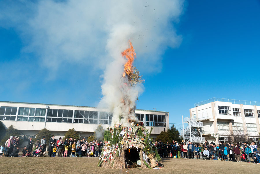
<path fill-rule="evenodd" d="M 184 123 L 188 123 L 188 126 L 184 129 Z M 182 116 L 182 127 L 183 127 L 183 141 L 184 142 L 205 142 L 205 137 L 202 136 L 203 122 L 197 122 L 193 118 L 185 117 L 183 121 Z M 185 141 L 186 140 L 186 141 Z"/>

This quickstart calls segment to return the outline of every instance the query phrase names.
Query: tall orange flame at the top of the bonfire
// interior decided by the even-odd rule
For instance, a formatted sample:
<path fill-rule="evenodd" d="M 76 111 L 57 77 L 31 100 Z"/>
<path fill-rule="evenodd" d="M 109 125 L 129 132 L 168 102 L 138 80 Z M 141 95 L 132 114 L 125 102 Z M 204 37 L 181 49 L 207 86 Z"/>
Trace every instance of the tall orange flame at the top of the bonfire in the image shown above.
<path fill-rule="evenodd" d="M 135 50 L 133 49 L 133 45 L 130 40 L 129 40 L 129 45 L 130 45 L 130 48 L 127 48 L 125 51 L 123 51 L 121 53 L 123 57 L 127 58 L 127 63 L 125 63 L 125 65 L 124 65 L 123 77 L 125 77 L 126 74 L 129 75 L 130 72 L 133 71 L 132 64 L 133 64 L 134 58 L 136 57 Z"/>

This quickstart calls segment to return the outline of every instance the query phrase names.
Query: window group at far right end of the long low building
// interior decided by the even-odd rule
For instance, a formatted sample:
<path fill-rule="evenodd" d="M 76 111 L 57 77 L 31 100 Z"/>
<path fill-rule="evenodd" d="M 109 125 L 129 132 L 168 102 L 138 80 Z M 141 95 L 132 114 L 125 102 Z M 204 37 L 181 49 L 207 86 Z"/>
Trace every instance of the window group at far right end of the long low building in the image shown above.
<path fill-rule="evenodd" d="M 145 125 L 155 127 L 166 127 L 165 116 L 145 114 Z"/>

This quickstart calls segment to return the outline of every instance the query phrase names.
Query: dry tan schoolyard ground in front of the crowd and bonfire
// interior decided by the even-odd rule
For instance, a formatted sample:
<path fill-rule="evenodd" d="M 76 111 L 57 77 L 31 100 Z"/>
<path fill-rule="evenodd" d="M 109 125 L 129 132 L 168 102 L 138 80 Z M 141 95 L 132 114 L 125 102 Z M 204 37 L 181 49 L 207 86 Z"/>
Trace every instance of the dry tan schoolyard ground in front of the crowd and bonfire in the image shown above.
<path fill-rule="evenodd" d="M 226 162 L 220 160 L 198 159 L 165 159 L 164 168 L 142 169 L 131 168 L 128 171 L 120 169 L 104 169 L 97 167 L 97 157 L 0 157 L 0 173 L 258 173 L 260 164 L 246 162 Z M 127 171 L 127 172 L 126 172 Z"/>

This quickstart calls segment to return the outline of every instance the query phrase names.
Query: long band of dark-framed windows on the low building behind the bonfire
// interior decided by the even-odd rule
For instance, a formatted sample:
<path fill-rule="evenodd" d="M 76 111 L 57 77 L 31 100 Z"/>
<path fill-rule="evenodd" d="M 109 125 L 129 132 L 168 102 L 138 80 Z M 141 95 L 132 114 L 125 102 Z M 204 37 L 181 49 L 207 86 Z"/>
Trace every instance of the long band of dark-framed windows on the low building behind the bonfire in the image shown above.
<path fill-rule="evenodd" d="M 17 107 L 0 107 L 0 120 L 15 121 Z M 17 121 L 44 122 L 46 109 L 19 107 Z M 103 111 L 74 111 L 67 109 L 48 109 L 46 122 L 111 124 L 113 115 Z M 139 121 L 146 126 L 166 127 L 165 115 L 136 114 Z"/>

